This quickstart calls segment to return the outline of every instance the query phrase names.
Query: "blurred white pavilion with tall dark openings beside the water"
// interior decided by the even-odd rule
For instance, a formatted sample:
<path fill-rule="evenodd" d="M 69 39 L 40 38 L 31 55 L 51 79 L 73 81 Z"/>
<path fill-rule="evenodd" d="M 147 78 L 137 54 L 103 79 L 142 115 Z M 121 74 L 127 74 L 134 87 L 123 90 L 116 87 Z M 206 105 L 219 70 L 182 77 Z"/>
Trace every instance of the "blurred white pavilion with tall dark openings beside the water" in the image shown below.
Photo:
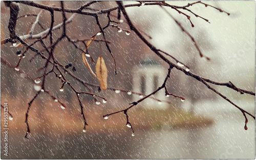
<path fill-rule="evenodd" d="M 151 94 L 163 84 L 167 72 L 168 71 L 154 59 L 148 57 L 144 58 L 133 67 L 132 90 L 145 95 Z M 142 95 L 133 95 L 132 101 L 138 101 L 143 97 Z M 164 89 L 161 89 L 155 95 L 152 95 L 152 97 L 159 100 L 167 100 Z M 168 107 L 167 103 L 156 101 L 151 98 L 145 99 L 140 105 L 150 109 L 166 109 Z"/>

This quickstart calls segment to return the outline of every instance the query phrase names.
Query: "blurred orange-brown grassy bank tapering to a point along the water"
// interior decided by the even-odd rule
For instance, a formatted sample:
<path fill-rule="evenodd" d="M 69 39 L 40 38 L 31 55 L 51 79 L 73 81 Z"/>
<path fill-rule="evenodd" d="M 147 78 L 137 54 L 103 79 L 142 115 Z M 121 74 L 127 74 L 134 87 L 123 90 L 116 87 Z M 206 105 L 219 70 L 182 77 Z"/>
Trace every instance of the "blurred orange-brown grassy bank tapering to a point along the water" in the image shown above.
<path fill-rule="evenodd" d="M 10 110 L 13 112 L 13 121 L 9 122 L 9 127 L 13 132 L 26 133 L 25 113 L 27 105 L 19 108 L 19 102 L 9 102 Z M 80 108 L 61 109 L 57 105 L 45 103 L 47 106 L 34 102 L 29 113 L 29 125 L 32 133 L 54 132 L 54 133 L 71 133 L 81 132 L 83 129 L 83 120 L 80 115 Z M 44 109 L 42 109 L 44 108 Z M 126 117 L 123 113 L 117 113 L 109 117 L 108 120 L 103 119 L 105 113 L 116 111 L 113 108 L 107 109 L 101 106 L 88 106 L 84 111 L 87 122 L 87 131 L 92 133 L 115 133 L 127 131 Z M 128 112 L 129 120 L 135 131 L 147 131 L 158 129 L 179 129 L 203 127 L 213 123 L 213 120 L 197 114 L 190 114 L 183 110 L 169 108 L 167 110 L 160 109 L 136 109 L 132 108 Z M 2 110 L 3 116 L 3 110 Z M 2 119 L 3 124 L 3 119 Z M 131 130 L 129 130 L 131 131 Z"/>

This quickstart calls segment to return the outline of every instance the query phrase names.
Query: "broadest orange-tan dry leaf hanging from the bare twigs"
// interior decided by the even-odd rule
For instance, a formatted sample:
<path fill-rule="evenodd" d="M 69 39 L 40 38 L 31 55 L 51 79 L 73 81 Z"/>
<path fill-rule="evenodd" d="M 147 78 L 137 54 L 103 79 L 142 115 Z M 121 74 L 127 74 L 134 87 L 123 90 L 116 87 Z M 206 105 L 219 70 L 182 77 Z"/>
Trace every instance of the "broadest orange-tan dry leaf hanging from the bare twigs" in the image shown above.
<path fill-rule="evenodd" d="M 100 88 L 106 90 L 106 88 L 108 88 L 108 69 L 106 68 L 105 61 L 101 56 L 99 56 L 96 63 L 96 74 L 100 82 Z"/>

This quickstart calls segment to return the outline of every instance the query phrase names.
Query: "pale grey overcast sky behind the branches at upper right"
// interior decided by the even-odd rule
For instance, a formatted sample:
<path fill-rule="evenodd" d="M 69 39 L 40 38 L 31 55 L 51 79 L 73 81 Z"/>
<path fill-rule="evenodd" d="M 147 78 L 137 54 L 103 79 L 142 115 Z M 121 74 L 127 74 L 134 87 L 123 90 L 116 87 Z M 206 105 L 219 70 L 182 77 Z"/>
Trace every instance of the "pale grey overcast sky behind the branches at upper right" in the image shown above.
<path fill-rule="evenodd" d="M 167 3 L 184 6 L 187 5 L 188 2 Z M 176 17 L 182 23 L 183 27 L 196 39 L 200 39 L 200 35 L 197 35 L 198 31 L 207 33 L 207 40 L 209 40 L 216 49 L 206 51 L 204 54 L 211 58 L 219 57 L 218 63 L 224 66 L 226 65 L 229 68 L 227 73 L 220 71 L 221 67 L 217 68 L 217 72 L 221 72 L 225 75 L 223 81 L 230 79 L 230 77 L 234 75 L 237 76 L 236 78 L 232 78 L 234 81 L 241 81 L 240 78 L 255 79 L 255 2 L 207 1 L 205 3 L 219 7 L 229 12 L 230 15 L 228 16 L 226 13 L 221 13 L 209 6 L 205 7 L 203 4 L 190 6 L 188 9 L 208 19 L 210 22 L 209 24 L 205 20 L 181 10 L 191 16 L 191 21 L 195 25 L 195 27 L 192 28 L 189 20 L 184 15 L 179 14 L 171 8 L 165 8 L 170 14 Z M 180 41 L 181 34 L 184 33 L 181 33 L 181 29 L 175 24 L 174 20 L 159 6 L 140 6 L 126 9 L 130 11 L 128 13 L 133 17 L 133 20 L 151 20 L 150 24 L 146 25 L 151 28 L 148 33 L 153 37 L 151 42 L 153 42 L 157 48 L 167 49 L 170 44 L 175 42 L 179 44 L 182 42 Z M 141 15 L 143 15 L 143 17 L 140 17 Z M 174 55 L 175 54 L 176 53 L 174 53 Z"/>

